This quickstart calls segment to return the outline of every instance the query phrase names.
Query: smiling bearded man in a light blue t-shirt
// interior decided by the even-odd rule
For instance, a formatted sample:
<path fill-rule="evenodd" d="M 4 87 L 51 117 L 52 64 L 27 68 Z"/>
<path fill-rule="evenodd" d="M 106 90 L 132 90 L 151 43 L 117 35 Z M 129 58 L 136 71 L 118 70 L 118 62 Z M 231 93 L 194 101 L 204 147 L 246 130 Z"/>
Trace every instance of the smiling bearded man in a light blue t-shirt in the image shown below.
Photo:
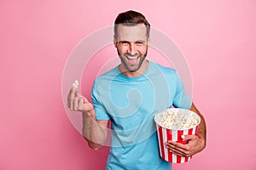
<path fill-rule="evenodd" d="M 206 146 L 206 123 L 172 68 L 146 58 L 150 25 L 143 14 L 121 13 L 115 20 L 113 43 L 120 65 L 97 77 L 91 92 L 92 104 L 72 88 L 67 105 L 83 113 L 83 134 L 90 148 L 98 150 L 108 136 L 111 148 L 107 169 L 171 169 L 159 155 L 154 115 L 172 106 L 201 116 L 197 135 L 184 135 L 188 144 L 166 141 L 177 156 L 192 156 Z"/>

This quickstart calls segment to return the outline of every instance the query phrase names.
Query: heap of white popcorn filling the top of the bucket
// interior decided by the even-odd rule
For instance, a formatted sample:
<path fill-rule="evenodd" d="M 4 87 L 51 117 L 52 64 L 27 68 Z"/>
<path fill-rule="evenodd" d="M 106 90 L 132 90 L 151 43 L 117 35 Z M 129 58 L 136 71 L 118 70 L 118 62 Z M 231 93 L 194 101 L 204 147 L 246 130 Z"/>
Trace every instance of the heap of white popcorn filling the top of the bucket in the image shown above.
<path fill-rule="evenodd" d="M 200 122 L 195 114 L 177 113 L 172 110 L 163 111 L 160 117 L 160 126 L 172 129 L 189 129 L 195 127 Z"/>

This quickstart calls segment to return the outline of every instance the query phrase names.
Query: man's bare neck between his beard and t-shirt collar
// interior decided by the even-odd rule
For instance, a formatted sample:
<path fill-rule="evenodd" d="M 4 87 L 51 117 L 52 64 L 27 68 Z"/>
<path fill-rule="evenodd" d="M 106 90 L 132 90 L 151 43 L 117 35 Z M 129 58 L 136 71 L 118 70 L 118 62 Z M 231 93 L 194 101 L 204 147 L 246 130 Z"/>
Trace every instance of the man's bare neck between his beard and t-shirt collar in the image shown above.
<path fill-rule="evenodd" d="M 119 65 L 119 71 L 125 75 L 125 77 L 140 77 L 143 75 L 144 72 L 148 70 L 148 60 L 144 59 L 143 64 L 141 65 L 140 69 L 137 71 L 128 71 L 127 69 L 123 68 L 122 65 Z"/>

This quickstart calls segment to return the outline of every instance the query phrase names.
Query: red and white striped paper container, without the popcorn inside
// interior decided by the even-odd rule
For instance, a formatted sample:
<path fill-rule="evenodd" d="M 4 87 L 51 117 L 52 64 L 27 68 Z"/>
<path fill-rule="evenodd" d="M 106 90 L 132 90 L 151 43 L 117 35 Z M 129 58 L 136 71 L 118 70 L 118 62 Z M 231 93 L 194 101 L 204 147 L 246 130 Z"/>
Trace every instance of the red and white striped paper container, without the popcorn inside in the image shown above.
<path fill-rule="evenodd" d="M 176 141 L 177 143 L 186 144 L 187 141 L 183 141 L 181 139 L 181 136 L 185 135 L 185 134 L 196 134 L 198 125 L 201 121 L 201 118 L 195 112 L 185 110 L 185 109 L 171 108 L 168 110 L 172 111 L 172 112 L 178 112 L 181 114 L 187 114 L 187 113 L 195 114 L 195 116 L 198 117 L 198 120 L 199 120 L 198 124 L 195 127 L 191 127 L 189 129 L 172 129 L 172 128 L 166 128 L 166 127 L 160 126 L 160 123 L 159 123 L 160 116 L 162 117 L 164 114 L 166 114 L 166 111 L 162 111 L 154 116 L 154 122 L 156 125 L 158 144 L 159 144 L 159 150 L 160 150 L 160 156 L 164 160 L 172 162 L 172 163 L 184 163 L 184 162 L 189 161 L 192 158 L 192 156 L 189 156 L 189 157 L 176 156 L 175 154 L 172 154 L 172 152 L 166 148 L 165 143 L 168 140 L 172 140 L 172 141 Z"/>

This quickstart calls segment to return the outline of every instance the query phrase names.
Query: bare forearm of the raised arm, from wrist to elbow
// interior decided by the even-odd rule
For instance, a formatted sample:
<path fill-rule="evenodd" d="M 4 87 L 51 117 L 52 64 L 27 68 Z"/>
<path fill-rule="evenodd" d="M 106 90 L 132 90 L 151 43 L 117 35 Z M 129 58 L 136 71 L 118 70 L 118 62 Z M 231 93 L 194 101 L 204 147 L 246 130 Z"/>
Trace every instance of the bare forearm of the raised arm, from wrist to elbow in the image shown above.
<path fill-rule="evenodd" d="M 83 113 L 83 136 L 93 150 L 102 147 L 107 139 L 107 127 L 102 127 L 96 122 L 95 116 Z"/>

